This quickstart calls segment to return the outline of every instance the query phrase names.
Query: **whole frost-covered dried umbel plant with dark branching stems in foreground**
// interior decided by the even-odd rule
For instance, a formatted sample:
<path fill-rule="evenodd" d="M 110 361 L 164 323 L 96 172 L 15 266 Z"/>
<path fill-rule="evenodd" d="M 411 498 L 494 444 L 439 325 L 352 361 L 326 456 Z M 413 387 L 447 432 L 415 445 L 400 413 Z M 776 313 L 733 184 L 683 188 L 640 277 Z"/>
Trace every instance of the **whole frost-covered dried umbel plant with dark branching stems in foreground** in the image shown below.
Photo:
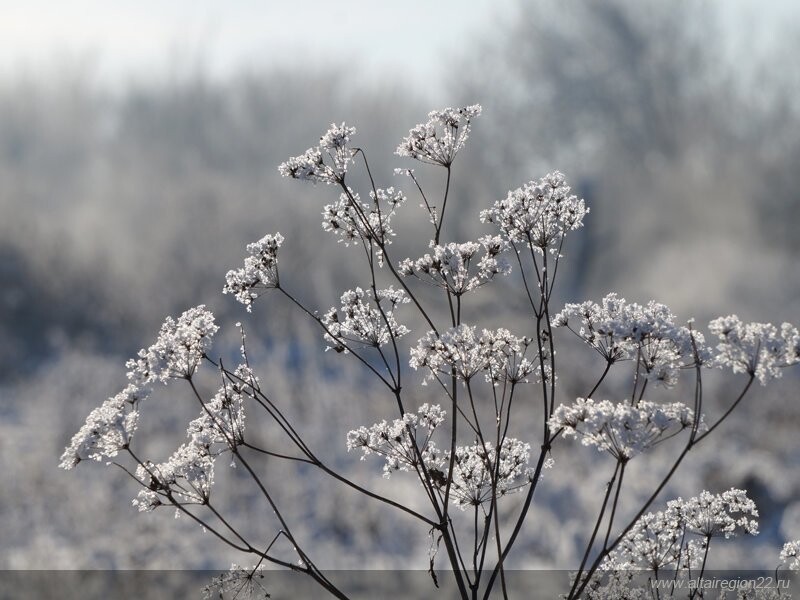
<path fill-rule="evenodd" d="M 414 480 L 420 502 L 405 505 L 357 483 L 349 476 L 352 471 L 339 470 L 344 459 L 317 454 L 287 416 L 284 399 L 273 399 L 262 389 L 243 331 L 238 366 L 231 369 L 211 354 L 218 327 L 202 305 L 165 321 L 156 342 L 127 363 L 129 384 L 90 413 L 66 448 L 63 468 L 85 460 L 115 465 L 136 482 L 139 492 L 133 504 L 140 511 L 169 507 L 257 559 L 252 569 L 234 565 L 208 593 L 266 594 L 260 578 L 262 568 L 271 565 L 305 574 L 331 595 L 347 597 L 321 570 L 310 543 L 295 535 L 294 520 L 302 513 L 273 494 L 273 486 L 281 482 L 270 480 L 272 469 L 259 468 L 264 459 L 316 469 L 331 485 L 382 503 L 410 526 L 428 532 L 433 584 L 438 585 L 438 559 L 462 598 L 488 598 L 498 590 L 509 595 L 506 566 L 514 560 L 512 551 L 523 531 L 536 535 L 530 508 L 536 490 L 546 485 L 542 482 L 558 477 L 557 469 L 547 478 L 543 472 L 553 467 L 553 456 L 562 450 L 556 444 L 560 438 L 580 439 L 613 463 L 597 519 L 587 527 L 582 559 L 571 583 L 565 582 L 569 600 L 652 597 L 633 587 L 632 569 L 649 570 L 656 577 L 665 569 L 702 572 L 714 538 L 757 532 L 757 511 L 743 490 L 704 491 L 668 502 L 658 512 L 649 509 L 689 451 L 725 422 L 756 379 L 765 384 L 800 362 L 797 329 L 720 317 L 709 326 L 718 338 L 714 346 L 692 321 L 679 322 L 655 301 L 629 303 L 610 293 L 600 303 L 569 303 L 556 311 L 553 289 L 565 268 L 561 262 L 569 256 L 568 240 L 589 214 L 559 172 L 510 191 L 482 211 L 480 219 L 491 231 L 477 240 L 442 240 L 455 160 L 480 114 L 478 105 L 431 112 L 397 148 L 400 157 L 445 173 L 444 194 L 435 205 L 413 169 L 396 170 L 410 178 L 427 213 L 431 239 L 427 248 L 413 253 L 420 258 L 397 260 L 391 252 L 392 242 L 402 235 L 393 220 L 406 204 L 405 193 L 377 187 L 364 151 L 352 146 L 355 129 L 333 124 L 318 145 L 279 170 L 286 177 L 337 188 L 338 199 L 322 210 L 322 227 L 363 252 L 360 285 L 342 290 L 338 305 L 327 311 L 305 306 L 292 293 L 292 281 L 279 277 L 278 252 L 285 240 L 275 233 L 247 245 L 243 266 L 227 273 L 223 288 L 248 311 L 267 293 L 283 297 L 319 328 L 322 342 L 336 351 L 331 360 L 355 360 L 379 382 L 390 403 L 383 409 L 386 418 L 371 426 L 354 424 L 342 437 L 347 450 L 360 451 L 362 459 L 383 459 L 383 476 L 390 479 L 385 485 L 404 477 Z M 369 181 L 366 193 L 351 187 L 350 174 L 359 165 Z M 490 289 L 498 275 L 509 275 L 512 268 L 516 278 L 504 280 L 519 284 L 517 299 L 529 310 L 529 319 L 518 322 L 515 328 L 520 330 L 514 333 L 471 320 L 476 290 Z M 422 293 L 423 287 L 430 293 Z M 505 299 L 495 299 L 495 313 L 502 314 Z M 578 398 L 566 396 L 560 382 L 589 370 L 582 364 L 561 364 L 557 346 L 564 329 L 595 350 L 604 367 L 591 390 Z M 214 388 L 198 380 L 203 365 L 219 374 L 216 392 L 209 393 Z M 704 415 L 701 379 L 703 369 L 710 367 L 744 374 L 745 381 L 721 414 Z M 612 369 L 630 386 L 629 394 L 608 386 Z M 645 399 L 651 382 L 668 392 L 681 389 L 681 379 L 694 383 L 691 399 Z M 156 382 L 187 385 L 200 410 L 184 442 L 161 459 L 141 455 L 136 435 L 142 404 L 152 402 L 148 398 Z M 440 400 L 419 405 L 417 386 L 426 383 L 433 384 L 428 395 Z M 593 399 L 601 386 L 609 388 L 602 393 L 611 399 Z M 267 419 L 283 446 L 265 446 L 262 431 L 253 431 L 253 424 L 260 423 L 254 414 Z M 676 449 L 677 440 L 682 441 Z M 635 504 L 633 498 L 623 511 L 630 461 L 656 447 L 661 457 L 669 448 L 673 452 L 660 482 L 645 501 Z M 225 463 L 239 469 L 240 481 L 252 481 L 274 516 L 275 532 L 269 539 L 255 539 L 221 512 L 214 481 L 223 454 L 229 459 Z M 366 468 L 371 469 L 369 463 Z M 440 546 L 443 558 L 435 551 Z M 797 569 L 798 553 L 798 542 L 788 543 L 780 554 L 782 564 Z"/>

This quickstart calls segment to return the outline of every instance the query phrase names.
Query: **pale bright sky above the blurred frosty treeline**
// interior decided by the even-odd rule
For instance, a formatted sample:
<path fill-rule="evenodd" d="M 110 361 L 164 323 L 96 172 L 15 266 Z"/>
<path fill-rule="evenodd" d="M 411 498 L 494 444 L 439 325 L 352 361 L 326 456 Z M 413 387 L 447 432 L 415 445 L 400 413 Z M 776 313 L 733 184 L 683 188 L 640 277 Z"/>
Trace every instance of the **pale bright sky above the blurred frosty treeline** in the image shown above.
<path fill-rule="evenodd" d="M 665 0 L 669 1 L 669 0 Z M 723 0 L 718 0 L 723 2 Z M 449 56 L 491 36 L 513 18 L 515 0 L 0 0 L 0 74 L 86 64 L 114 83 L 163 76 L 202 64 L 225 76 L 275 64 L 303 69 L 353 65 L 362 77 L 395 73 L 415 87 L 441 91 Z M 762 41 L 792 0 L 727 0 L 725 10 L 747 41 Z M 766 31 L 766 34 L 763 32 Z M 744 44 L 747 46 L 747 44 Z"/>

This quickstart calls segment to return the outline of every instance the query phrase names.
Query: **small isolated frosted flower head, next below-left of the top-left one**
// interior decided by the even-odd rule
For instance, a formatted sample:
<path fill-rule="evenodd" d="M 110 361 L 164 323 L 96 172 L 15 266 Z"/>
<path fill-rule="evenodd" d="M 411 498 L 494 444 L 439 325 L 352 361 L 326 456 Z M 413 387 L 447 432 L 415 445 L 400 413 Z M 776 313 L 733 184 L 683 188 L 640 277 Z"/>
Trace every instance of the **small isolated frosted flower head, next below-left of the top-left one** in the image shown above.
<path fill-rule="evenodd" d="M 222 293 L 233 295 L 251 311 L 253 302 L 264 290 L 276 288 L 280 284 L 278 248 L 281 244 L 283 236 L 280 233 L 265 235 L 257 242 L 248 244 L 244 267 L 228 271 Z"/>

